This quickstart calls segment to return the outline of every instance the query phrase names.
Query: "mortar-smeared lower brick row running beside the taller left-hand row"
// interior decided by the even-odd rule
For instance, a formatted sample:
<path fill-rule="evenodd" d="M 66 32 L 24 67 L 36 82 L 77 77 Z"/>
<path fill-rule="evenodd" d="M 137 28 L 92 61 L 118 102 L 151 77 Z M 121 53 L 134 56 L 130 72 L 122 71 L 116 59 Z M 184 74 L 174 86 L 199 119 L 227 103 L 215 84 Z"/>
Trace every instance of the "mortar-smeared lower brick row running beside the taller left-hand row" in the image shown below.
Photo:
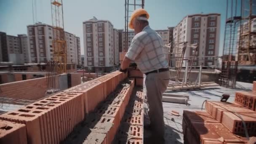
<path fill-rule="evenodd" d="M 128 104 L 134 80 L 119 85 L 104 102 L 90 113 L 64 143 L 111 144 Z M 127 91 L 120 94 L 120 91 Z"/>

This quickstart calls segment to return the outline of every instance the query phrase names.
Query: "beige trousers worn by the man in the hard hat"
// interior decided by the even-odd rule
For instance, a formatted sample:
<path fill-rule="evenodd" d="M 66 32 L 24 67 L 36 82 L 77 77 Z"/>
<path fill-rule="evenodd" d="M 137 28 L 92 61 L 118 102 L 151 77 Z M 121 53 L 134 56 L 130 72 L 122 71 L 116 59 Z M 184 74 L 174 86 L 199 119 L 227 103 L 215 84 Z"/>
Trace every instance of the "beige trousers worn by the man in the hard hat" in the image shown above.
<path fill-rule="evenodd" d="M 150 73 L 146 76 L 145 85 L 149 104 L 149 119 L 152 136 L 158 144 L 164 144 L 165 124 L 163 120 L 162 94 L 170 80 L 170 72 Z"/>

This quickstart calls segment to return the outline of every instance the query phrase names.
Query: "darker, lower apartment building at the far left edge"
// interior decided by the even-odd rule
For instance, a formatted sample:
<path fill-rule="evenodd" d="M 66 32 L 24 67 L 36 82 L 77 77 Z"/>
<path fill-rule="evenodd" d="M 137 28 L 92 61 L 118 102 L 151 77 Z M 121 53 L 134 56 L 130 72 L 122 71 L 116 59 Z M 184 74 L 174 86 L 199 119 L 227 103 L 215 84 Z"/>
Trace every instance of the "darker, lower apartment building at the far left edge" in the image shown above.
<path fill-rule="evenodd" d="M 11 61 L 13 64 L 24 64 L 27 56 L 27 35 L 6 35 L 0 32 L 0 61 Z"/>

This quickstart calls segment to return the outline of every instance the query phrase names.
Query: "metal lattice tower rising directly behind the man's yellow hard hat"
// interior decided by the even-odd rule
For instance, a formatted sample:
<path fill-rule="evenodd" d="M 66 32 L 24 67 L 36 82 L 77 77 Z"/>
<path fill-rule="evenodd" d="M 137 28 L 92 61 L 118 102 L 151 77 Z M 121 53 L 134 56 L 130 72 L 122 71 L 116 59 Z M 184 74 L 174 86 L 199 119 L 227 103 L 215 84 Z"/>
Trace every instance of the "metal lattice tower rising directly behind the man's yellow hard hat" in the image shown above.
<path fill-rule="evenodd" d="M 145 0 L 125 0 L 125 48 L 123 52 L 128 50 L 128 32 L 131 31 L 128 28 L 128 24 L 131 13 L 138 8 L 144 8 L 144 1 Z"/>

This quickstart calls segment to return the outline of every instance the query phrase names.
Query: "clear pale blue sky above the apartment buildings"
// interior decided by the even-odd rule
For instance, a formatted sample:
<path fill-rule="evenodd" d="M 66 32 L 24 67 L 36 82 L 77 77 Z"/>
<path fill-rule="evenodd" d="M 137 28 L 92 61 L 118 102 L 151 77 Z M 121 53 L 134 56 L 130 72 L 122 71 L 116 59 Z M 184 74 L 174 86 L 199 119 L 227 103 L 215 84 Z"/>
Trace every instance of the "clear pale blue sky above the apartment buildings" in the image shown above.
<path fill-rule="evenodd" d="M 37 21 L 52 24 L 51 0 L 35 1 Z M 63 4 L 64 29 L 80 37 L 82 52 L 83 21 L 96 16 L 97 19 L 111 21 L 117 29 L 124 28 L 125 0 L 63 0 Z M 226 0 L 145 0 L 145 9 L 150 15 L 149 25 L 153 29 L 174 27 L 189 14 L 220 13 L 222 53 Z M 0 0 L 0 31 L 8 35 L 27 34 L 29 24 L 33 24 L 32 0 Z"/>

